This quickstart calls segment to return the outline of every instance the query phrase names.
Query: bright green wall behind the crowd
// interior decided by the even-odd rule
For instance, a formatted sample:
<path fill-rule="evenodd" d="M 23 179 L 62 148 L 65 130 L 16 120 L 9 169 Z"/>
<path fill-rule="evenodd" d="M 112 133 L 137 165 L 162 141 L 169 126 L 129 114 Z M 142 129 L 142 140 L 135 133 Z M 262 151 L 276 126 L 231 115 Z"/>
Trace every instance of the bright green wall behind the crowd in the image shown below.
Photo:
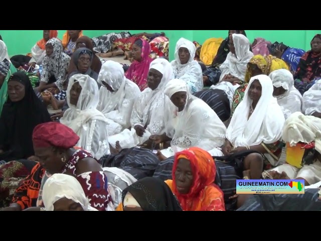
<path fill-rule="evenodd" d="M 84 35 L 88 37 L 98 37 L 112 32 L 124 30 L 84 30 Z M 228 30 L 128 30 L 130 33 L 156 33 L 165 32 L 171 43 L 176 43 L 181 37 L 197 41 L 200 44 L 208 38 L 225 38 Z M 58 30 L 58 37 L 62 39 L 66 30 Z M 246 30 L 248 39 L 253 42 L 254 38 L 261 37 L 266 40 L 283 42 L 293 48 L 304 50 L 310 49 L 310 41 L 315 34 L 320 34 L 321 30 Z M 35 43 L 42 38 L 42 30 L 0 30 L 10 56 L 16 54 L 29 53 Z M 174 57 L 175 47 L 171 44 L 170 59 Z"/>

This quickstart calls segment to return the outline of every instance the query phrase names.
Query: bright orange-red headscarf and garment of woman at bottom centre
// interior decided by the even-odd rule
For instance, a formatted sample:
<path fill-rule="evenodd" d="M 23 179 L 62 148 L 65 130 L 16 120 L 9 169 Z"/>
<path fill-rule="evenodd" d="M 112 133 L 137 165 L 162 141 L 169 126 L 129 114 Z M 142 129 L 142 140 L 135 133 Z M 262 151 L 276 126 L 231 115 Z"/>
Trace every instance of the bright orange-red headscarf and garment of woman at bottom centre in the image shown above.
<path fill-rule="evenodd" d="M 176 187 L 175 171 L 181 158 L 190 161 L 193 172 L 193 184 L 187 194 L 180 194 Z M 215 162 L 207 151 L 192 147 L 176 153 L 172 189 L 184 211 L 225 211 L 224 194 L 214 184 L 215 175 Z"/>

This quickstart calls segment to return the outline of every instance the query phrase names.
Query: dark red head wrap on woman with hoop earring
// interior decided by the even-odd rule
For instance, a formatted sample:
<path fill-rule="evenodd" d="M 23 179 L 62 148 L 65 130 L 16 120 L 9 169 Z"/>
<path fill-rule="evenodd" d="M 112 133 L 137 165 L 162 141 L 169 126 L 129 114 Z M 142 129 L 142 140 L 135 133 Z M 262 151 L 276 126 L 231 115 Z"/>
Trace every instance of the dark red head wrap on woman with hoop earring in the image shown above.
<path fill-rule="evenodd" d="M 36 148 L 73 148 L 79 137 L 69 127 L 58 122 L 48 122 L 35 127 L 32 141 Z"/>

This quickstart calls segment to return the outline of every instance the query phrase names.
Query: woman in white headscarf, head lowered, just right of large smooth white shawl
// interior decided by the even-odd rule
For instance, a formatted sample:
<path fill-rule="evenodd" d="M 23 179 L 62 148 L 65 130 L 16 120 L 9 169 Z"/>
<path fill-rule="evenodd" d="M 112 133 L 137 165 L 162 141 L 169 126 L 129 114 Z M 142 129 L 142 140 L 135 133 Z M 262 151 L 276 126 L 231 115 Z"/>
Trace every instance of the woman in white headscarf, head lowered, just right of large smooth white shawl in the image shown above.
<path fill-rule="evenodd" d="M 270 73 L 274 91 L 273 96 L 277 99 L 285 119 L 292 113 L 304 112 L 303 98 L 294 87 L 293 75 L 287 69 L 278 69 Z"/>

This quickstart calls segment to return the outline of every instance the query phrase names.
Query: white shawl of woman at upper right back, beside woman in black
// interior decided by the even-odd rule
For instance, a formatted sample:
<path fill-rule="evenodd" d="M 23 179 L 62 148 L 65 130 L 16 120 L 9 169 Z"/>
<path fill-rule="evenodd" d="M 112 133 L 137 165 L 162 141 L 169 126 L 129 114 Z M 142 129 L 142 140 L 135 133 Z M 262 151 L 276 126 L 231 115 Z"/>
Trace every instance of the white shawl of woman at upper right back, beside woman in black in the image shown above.
<path fill-rule="evenodd" d="M 250 41 L 248 38 L 243 34 L 233 34 L 232 38 L 236 55 L 231 52 L 228 53 L 226 60 L 220 66 L 222 73 L 219 82 L 221 82 L 227 74 L 231 74 L 239 80 L 244 81 L 247 63 L 254 56 L 250 51 Z"/>

